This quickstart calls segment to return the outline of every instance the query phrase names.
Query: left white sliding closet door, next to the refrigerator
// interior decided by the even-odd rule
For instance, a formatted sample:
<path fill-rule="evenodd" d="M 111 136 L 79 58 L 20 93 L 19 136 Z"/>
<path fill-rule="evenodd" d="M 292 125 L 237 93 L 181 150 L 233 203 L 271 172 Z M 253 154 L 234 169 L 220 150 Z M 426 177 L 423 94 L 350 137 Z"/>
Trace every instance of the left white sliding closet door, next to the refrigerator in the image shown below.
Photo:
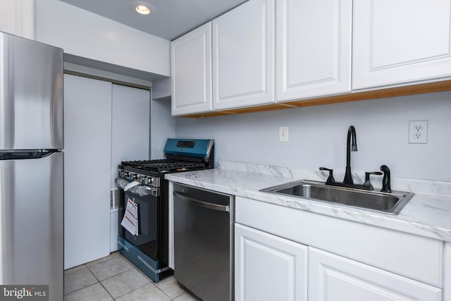
<path fill-rule="evenodd" d="M 64 75 L 64 268 L 110 252 L 111 83 Z"/>

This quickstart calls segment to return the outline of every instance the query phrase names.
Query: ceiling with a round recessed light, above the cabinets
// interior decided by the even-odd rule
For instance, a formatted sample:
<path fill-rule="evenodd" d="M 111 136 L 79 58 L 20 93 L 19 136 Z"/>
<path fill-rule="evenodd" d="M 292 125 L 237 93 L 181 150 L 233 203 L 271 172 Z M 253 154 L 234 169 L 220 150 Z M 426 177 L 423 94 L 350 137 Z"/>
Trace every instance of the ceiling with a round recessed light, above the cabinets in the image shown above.
<path fill-rule="evenodd" d="M 147 16 L 135 11 L 134 0 L 60 1 L 172 41 L 247 0 L 140 0 L 155 8 Z"/>

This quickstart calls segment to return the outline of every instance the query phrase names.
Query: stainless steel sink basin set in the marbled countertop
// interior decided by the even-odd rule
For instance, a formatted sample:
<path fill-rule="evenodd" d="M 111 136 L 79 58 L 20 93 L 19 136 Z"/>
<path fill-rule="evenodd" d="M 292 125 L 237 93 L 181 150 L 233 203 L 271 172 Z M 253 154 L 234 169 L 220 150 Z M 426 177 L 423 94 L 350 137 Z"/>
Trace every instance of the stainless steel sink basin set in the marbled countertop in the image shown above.
<path fill-rule="evenodd" d="M 414 196 L 413 192 L 394 191 L 392 193 L 341 188 L 325 185 L 321 182 L 300 180 L 282 185 L 264 188 L 262 192 L 292 197 L 330 202 L 350 207 L 378 211 L 387 214 L 398 214 L 402 207 Z"/>

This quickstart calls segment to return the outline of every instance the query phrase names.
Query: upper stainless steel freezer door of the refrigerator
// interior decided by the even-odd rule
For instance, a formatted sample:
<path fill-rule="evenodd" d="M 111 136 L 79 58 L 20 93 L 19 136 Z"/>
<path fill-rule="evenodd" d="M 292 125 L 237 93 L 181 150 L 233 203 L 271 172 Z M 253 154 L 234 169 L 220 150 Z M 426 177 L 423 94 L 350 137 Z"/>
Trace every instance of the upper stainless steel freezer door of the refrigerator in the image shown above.
<path fill-rule="evenodd" d="M 0 151 L 63 147 L 63 49 L 0 32 Z"/>

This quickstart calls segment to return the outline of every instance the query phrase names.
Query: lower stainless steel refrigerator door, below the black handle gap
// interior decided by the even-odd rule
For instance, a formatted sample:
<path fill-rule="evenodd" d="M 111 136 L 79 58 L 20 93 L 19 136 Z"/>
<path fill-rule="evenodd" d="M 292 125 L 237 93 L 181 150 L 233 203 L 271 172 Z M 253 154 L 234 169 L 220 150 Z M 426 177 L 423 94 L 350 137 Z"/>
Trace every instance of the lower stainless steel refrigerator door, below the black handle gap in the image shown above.
<path fill-rule="evenodd" d="M 63 300 L 63 153 L 0 160 L 0 283 Z"/>

